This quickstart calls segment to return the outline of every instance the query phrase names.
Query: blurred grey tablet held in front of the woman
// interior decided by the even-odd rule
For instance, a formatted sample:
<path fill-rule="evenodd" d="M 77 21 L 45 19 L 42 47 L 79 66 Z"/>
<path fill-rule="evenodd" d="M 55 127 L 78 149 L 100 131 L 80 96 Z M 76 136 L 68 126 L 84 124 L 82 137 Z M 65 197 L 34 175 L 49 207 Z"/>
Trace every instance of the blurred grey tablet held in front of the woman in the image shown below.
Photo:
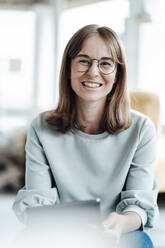
<path fill-rule="evenodd" d="M 82 227 L 100 224 L 100 201 L 72 201 L 27 209 L 30 226 Z"/>

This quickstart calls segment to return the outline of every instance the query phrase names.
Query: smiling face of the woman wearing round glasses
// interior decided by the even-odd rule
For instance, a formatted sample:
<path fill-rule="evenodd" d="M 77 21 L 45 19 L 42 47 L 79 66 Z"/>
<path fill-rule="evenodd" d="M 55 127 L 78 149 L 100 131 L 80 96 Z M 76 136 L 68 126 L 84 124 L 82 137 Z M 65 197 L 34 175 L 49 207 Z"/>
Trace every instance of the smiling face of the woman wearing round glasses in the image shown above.
<path fill-rule="evenodd" d="M 71 62 L 71 87 L 77 99 L 105 102 L 115 83 L 116 69 L 104 75 L 98 68 L 97 60 L 104 58 L 101 65 L 107 70 L 109 62 L 111 63 L 109 58 L 112 57 L 110 48 L 98 34 L 92 34 L 84 41 L 77 56 Z M 86 70 L 84 68 L 88 68 L 89 61 L 91 65 L 87 71 L 84 71 Z"/>

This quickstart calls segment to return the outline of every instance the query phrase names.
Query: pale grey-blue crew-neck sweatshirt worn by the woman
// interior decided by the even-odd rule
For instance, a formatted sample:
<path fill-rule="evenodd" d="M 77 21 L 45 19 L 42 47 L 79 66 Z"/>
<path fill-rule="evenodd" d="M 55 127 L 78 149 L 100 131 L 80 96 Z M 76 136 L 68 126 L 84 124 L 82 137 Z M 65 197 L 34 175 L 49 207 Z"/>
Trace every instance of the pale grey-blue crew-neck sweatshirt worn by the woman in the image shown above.
<path fill-rule="evenodd" d="M 28 207 L 100 198 L 103 219 L 112 211 L 134 211 L 144 229 L 153 227 L 158 187 L 152 121 L 132 110 L 131 126 L 118 134 L 62 134 L 48 125 L 46 114 L 28 132 L 25 186 L 13 205 L 17 217 L 26 223 Z"/>

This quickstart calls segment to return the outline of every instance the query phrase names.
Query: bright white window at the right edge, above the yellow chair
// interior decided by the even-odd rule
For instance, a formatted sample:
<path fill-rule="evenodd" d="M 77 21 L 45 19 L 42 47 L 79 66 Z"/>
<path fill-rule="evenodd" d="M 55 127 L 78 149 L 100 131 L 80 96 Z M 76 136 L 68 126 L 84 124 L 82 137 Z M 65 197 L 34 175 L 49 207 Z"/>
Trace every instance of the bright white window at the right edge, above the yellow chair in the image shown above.
<path fill-rule="evenodd" d="M 152 1 L 149 5 L 151 22 L 141 26 L 139 54 L 139 88 L 160 96 L 161 122 L 165 126 L 165 1 Z"/>

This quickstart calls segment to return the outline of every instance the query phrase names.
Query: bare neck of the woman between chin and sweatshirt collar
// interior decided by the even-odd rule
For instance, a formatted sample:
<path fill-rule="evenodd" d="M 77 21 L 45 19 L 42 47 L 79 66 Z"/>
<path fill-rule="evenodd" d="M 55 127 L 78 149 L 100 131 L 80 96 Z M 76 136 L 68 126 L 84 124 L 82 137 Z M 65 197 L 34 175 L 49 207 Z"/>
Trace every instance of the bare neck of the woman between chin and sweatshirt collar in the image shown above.
<path fill-rule="evenodd" d="M 103 116 L 105 102 L 77 101 L 77 122 L 81 130 L 88 134 L 103 132 L 100 123 Z"/>

